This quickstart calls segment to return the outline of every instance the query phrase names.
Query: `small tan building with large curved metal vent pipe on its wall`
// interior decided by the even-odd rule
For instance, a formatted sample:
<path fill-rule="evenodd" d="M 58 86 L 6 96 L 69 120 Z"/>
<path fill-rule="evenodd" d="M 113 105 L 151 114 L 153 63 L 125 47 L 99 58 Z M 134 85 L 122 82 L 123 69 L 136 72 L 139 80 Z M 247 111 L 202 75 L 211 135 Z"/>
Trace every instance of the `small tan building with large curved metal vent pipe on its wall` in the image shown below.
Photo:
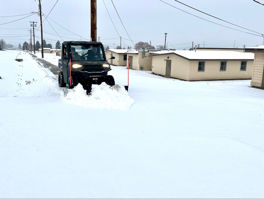
<path fill-rule="evenodd" d="M 151 70 L 152 57 L 148 57 L 149 51 L 128 51 L 126 52 L 129 60 L 129 69 Z M 128 67 L 128 66 L 127 66 Z"/>

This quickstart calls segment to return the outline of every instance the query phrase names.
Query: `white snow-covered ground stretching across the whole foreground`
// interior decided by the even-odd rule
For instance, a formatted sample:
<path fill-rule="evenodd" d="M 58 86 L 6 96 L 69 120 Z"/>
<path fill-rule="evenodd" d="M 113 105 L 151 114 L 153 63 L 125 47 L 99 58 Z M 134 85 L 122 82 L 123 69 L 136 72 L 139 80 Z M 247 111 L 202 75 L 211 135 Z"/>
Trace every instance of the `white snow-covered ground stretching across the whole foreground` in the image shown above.
<path fill-rule="evenodd" d="M 264 91 L 250 80 L 130 70 L 129 93 L 65 96 L 18 53 L 0 51 L 1 198 L 264 197 Z M 109 74 L 127 85 L 125 67 Z"/>

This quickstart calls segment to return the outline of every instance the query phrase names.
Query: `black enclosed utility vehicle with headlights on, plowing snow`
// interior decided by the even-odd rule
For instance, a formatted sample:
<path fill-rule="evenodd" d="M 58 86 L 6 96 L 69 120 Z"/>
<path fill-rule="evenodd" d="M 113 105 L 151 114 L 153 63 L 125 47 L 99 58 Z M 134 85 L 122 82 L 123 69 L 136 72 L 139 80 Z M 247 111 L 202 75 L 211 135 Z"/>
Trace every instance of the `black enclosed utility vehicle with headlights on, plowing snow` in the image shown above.
<path fill-rule="evenodd" d="M 114 59 L 111 57 L 110 59 Z M 115 85 L 101 42 L 67 41 L 62 43 L 62 58 L 59 59 L 59 86 L 73 88 L 82 84 L 87 92 L 92 84 Z"/>

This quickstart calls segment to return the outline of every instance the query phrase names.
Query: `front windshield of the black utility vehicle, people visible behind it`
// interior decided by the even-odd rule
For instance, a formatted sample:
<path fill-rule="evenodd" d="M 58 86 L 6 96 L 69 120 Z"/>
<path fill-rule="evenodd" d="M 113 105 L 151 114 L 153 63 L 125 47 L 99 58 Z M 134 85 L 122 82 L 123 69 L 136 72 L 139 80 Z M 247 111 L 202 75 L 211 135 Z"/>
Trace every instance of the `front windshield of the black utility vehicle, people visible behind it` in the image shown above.
<path fill-rule="evenodd" d="M 105 61 L 105 54 L 101 46 L 82 44 L 70 45 L 72 61 Z"/>

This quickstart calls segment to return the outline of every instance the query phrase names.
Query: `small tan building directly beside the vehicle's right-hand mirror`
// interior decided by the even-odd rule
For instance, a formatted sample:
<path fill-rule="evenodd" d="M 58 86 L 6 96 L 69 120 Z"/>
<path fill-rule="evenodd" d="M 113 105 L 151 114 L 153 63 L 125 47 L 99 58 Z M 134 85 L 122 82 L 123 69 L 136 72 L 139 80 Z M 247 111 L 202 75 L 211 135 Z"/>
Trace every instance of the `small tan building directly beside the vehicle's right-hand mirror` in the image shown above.
<path fill-rule="evenodd" d="M 111 65 L 115 66 L 126 66 L 127 65 L 127 55 L 126 52 L 129 49 L 107 49 L 105 50 L 106 59 L 115 57 L 114 60 L 109 60 Z"/>

